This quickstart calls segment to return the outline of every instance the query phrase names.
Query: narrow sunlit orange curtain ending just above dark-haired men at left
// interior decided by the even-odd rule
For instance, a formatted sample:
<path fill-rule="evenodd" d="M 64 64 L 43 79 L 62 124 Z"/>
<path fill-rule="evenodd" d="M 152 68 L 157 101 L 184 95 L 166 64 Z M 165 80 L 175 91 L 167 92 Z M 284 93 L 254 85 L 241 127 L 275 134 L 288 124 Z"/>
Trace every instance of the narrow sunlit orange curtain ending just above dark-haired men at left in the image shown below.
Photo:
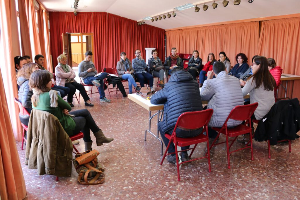
<path fill-rule="evenodd" d="M 40 28 L 39 28 L 40 29 Z M 30 45 L 32 50 L 32 61 L 34 62 L 34 56 L 41 54 L 41 45 L 38 34 L 37 20 L 35 17 L 35 8 L 33 0 L 29 0 L 29 32 L 30 32 Z"/>

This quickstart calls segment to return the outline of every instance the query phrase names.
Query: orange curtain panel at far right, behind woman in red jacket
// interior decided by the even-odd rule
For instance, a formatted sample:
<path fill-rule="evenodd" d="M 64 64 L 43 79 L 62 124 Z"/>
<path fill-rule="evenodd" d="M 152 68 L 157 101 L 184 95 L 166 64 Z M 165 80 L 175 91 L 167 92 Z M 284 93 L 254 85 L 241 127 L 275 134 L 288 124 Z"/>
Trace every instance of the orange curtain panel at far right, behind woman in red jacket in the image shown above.
<path fill-rule="evenodd" d="M 274 58 L 283 73 L 300 75 L 300 17 L 263 21 L 258 53 Z M 300 80 L 288 83 L 287 95 L 300 99 Z M 280 92 L 280 96 L 284 96 L 283 91 Z"/>

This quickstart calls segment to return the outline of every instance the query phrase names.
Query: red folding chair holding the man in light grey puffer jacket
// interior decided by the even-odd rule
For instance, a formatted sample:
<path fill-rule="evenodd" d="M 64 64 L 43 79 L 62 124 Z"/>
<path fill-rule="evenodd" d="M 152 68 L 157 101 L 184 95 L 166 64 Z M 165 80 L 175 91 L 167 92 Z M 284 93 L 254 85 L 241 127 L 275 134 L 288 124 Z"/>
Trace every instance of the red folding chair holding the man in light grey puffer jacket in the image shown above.
<path fill-rule="evenodd" d="M 230 161 L 229 161 L 229 155 L 235 151 L 239 151 L 242 149 L 246 149 L 246 148 L 250 148 L 251 149 L 251 160 L 253 160 L 253 148 L 252 148 L 252 140 L 250 140 L 250 146 L 246 145 L 243 148 L 234 150 L 234 151 L 230 151 L 229 149 L 232 146 L 232 144 L 235 142 L 235 140 L 237 139 L 237 137 L 239 135 L 243 135 L 246 133 L 250 133 L 250 138 L 252 138 L 252 128 L 251 128 L 251 123 L 250 123 L 250 118 L 253 115 L 255 109 L 257 108 L 258 103 L 252 103 L 249 105 L 243 105 L 243 106 L 235 106 L 231 112 L 229 113 L 226 121 L 224 122 L 223 126 L 221 128 L 217 128 L 217 127 L 212 127 L 213 130 L 216 130 L 218 132 L 217 137 L 214 139 L 214 141 L 212 142 L 211 146 L 209 149 L 211 149 L 213 146 L 216 145 L 220 145 L 223 143 L 226 143 L 226 148 L 227 148 L 227 161 L 228 161 L 228 169 L 230 169 Z M 245 121 L 246 120 L 246 124 L 248 123 L 249 126 L 246 126 L 245 124 L 240 124 L 234 128 L 230 128 L 227 129 L 227 121 L 229 119 L 233 119 L 233 120 L 240 120 L 240 121 Z M 226 136 L 226 141 L 225 142 L 220 142 L 215 144 L 217 138 L 220 136 L 220 134 L 223 133 Z M 228 141 L 228 137 L 234 137 L 234 139 L 229 140 Z M 229 142 L 232 143 L 229 146 Z"/>

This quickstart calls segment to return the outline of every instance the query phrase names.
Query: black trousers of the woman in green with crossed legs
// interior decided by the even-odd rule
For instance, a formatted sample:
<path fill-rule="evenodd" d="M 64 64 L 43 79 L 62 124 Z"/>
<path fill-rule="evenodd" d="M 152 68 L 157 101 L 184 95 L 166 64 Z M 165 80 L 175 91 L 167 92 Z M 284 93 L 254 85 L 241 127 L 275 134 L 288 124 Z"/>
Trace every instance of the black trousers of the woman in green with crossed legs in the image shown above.
<path fill-rule="evenodd" d="M 91 142 L 90 130 L 96 133 L 100 128 L 95 123 L 91 113 L 87 109 L 81 109 L 70 112 L 71 115 L 75 115 L 73 120 L 75 121 L 75 129 L 73 130 L 73 135 L 82 132 L 83 141 Z"/>

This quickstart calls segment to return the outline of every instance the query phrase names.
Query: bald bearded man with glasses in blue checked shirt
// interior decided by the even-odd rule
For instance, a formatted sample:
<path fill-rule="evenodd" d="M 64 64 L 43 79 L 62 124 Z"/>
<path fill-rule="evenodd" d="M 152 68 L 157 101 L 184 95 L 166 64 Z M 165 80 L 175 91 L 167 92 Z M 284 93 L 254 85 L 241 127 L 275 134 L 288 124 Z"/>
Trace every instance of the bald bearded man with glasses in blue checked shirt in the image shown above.
<path fill-rule="evenodd" d="M 148 70 L 147 64 L 141 55 L 141 51 L 139 49 L 135 50 L 134 54 L 136 58 L 132 59 L 132 67 L 134 68 L 134 75 L 140 82 L 141 87 L 145 87 L 145 79 L 149 80 L 149 86 L 151 88 L 151 93 L 154 94 L 155 91 L 153 89 L 153 76 L 147 72 Z"/>

